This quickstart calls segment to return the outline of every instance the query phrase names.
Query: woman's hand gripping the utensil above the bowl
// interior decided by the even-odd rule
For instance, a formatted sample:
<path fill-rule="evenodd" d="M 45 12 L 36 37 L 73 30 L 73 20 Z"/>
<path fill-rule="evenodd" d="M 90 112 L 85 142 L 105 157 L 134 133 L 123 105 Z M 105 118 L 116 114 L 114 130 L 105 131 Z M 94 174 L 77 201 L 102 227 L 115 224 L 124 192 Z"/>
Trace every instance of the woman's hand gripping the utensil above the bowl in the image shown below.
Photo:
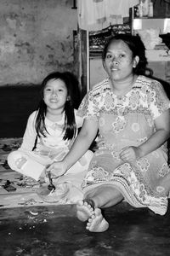
<path fill-rule="evenodd" d="M 61 162 L 54 162 L 50 166 L 47 167 L 46 172 L 51 172 L 54 174 L 55 177 L 60 177 L 65 174 L 66 166 L 63 161 Z"/>

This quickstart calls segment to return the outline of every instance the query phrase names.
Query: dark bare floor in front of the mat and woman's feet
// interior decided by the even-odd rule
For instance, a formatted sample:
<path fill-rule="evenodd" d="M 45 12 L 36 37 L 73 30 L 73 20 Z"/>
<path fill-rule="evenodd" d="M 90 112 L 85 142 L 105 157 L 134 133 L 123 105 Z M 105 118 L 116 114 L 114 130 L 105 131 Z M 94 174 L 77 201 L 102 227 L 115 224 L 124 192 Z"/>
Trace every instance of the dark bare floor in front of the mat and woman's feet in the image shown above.
<path fill-rule="evenodd" d="M 170 255 L 169 212 L 161 217 L 122 202 L 105 210 L 109 230 L 91 233 L 74 205 L 2 209 L 0 255 Z"/>

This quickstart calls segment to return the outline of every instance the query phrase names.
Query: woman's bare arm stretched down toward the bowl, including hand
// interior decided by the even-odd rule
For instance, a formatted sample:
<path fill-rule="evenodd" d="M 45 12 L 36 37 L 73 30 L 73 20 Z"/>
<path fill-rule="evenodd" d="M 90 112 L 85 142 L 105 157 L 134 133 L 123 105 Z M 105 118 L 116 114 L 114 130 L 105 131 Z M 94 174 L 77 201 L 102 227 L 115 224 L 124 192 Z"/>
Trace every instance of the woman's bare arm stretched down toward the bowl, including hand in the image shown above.
<path fill-rule="evenodd" d="M 65 174 L 86 153 L 94 141 L 97 132 L 98 122 L 94 119 L 85 119 L 82 129 L 73 143 L 71 150 L 66 154 L 65 159 L 62 162 L 54 162 L 47 168 L 47 172 L 52 172 L 57 177 Z"/>

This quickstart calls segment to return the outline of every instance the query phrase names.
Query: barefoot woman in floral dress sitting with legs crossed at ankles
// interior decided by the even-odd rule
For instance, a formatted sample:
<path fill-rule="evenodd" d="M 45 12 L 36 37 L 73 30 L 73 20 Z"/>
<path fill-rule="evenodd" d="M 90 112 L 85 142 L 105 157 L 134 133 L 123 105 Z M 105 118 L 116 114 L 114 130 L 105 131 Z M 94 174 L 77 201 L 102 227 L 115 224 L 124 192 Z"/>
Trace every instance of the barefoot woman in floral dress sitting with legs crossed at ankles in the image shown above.
<path fill-rule="evenodd" d="M 88 167 L 77 202 L 77 218 L 87 229 L 102 232 L 109 224 L 101 208 L 125 199 L 133 207 L 165 214 L 170 188 L 166 142 L 170 102 L 161 84 L 144 76 L 146 59 L 139 37 L 116 35 L 103 53 L 108 79 L 96 84 L 82 100 L 82 130 L 69 154 L 48 171 L 63 175 L 99 130 L 99 149 Z"/>

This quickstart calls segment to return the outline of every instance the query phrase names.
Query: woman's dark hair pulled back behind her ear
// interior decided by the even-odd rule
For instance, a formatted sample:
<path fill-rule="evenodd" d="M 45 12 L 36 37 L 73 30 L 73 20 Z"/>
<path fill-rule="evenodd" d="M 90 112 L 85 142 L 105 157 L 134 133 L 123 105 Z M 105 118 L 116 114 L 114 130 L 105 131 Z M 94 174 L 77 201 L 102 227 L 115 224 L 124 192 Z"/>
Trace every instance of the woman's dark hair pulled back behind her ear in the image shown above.
<path fill-rule="evenodd" d="M 145 47 L 138 35 L 133 36 L 132 34 L 117 34 L 109 38 L 105 44 L 105 48 L 102 54 L 103 63 L 105 61 L 105 55 L 107 53 L 107 49 L 109 48 L 111 43 L 115 40 L 122 40 L 125 44 L 127 44 L 129 49 L 131 49 L 133 52 L 133 58 L 135 56 L 139 56 L 139 63 L 137 67 L 133 67 L 133 72 L 136 74 L 145 74 L 146 65 L 147 65 L 147 59 L 145 56 Z"/>

